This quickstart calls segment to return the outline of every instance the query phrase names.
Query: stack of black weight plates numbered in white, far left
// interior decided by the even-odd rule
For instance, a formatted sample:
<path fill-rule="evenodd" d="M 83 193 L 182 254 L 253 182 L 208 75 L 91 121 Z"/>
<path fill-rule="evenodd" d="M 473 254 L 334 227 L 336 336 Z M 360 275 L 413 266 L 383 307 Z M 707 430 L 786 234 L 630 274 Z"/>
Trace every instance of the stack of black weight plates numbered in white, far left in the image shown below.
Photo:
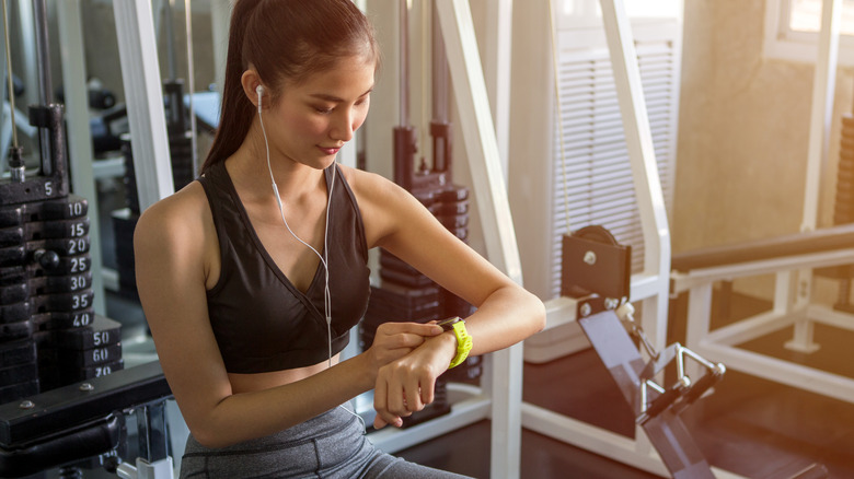
<path fill-rule="evenodd" d="M 74 195 L 0 207 L 0 402 L 80 375 L 55 349 L 94 322 L 86 214 Z"/>

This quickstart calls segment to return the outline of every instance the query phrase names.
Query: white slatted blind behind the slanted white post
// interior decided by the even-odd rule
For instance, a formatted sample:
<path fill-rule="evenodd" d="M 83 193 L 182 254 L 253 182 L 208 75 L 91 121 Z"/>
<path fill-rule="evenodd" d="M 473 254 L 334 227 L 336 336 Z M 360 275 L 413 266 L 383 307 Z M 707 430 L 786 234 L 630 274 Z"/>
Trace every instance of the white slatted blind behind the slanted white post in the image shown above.
<path fill-rule="evenodd" d="M 636 39 L 638 66 L 665 202 L 672 205 L 679 59 L 673 42 Z M 561 120 L 555 118 L 552 197 L 552 295 L 559 294 L 561 238 L 599 224 L 632 246 L 632 269 L 643 269 L 644 244 L 628 152 L 608 49 L 562 52 Z M 557 109 L 555 109 L 557 112 Z M 564 157 L 561 155 L 561 138 Z M 568 221 L 567 221 L 568 208 Z"/>

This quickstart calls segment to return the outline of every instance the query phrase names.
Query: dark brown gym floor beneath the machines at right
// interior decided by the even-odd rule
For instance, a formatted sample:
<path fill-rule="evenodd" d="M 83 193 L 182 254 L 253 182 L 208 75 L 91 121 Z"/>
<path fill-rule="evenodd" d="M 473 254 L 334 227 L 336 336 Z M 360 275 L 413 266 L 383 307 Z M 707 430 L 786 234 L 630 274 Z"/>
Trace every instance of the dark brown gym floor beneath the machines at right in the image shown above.
<path fill-rule="evenodd" d="M 732 300 L 732 316 L 765 307 Z M 671 337 L 684 330 L 684 304 L 671 304 Z M 717 320 L 725 320 L 713 312 Z M 788 334 L 788 336 L 787 336 Z M 747 344 L 777 357 L 844 370 L 854 365 L 854 338 L 817 327 L 822 349 L 810 357 L 782 348 L 782 331 Z M 672 338 L 671 338 L 672 340 Z M 714 359 L 713 359 L 714 360 Z M 854 376 L 854 375 L 852 375 Z M 523 400 L 600 428 L 630 435 L 632 414 L 596 353 L 586 350 L 524 367 Z M 682 414 L 713 466 L 749 478 L 789 478 L 812 465 L 830 478 L 854 478 L 854 404 L 763 381 L 732 370 L 713 395 Z M 477 478 L 489 477 L 489 423 L 484 421 L 400 453 L 401 456 Z M 655 477 L 531 431 L 522 433 L 522 478 Z"/>

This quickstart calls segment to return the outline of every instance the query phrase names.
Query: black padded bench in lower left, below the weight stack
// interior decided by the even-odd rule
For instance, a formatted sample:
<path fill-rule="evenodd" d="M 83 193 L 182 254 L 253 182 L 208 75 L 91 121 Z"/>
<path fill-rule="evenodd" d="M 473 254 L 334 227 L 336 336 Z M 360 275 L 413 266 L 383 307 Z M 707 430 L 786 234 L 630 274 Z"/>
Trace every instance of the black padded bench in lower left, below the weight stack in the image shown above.
<path fill-rule="evenodd" d="M 0 477 L 30 476 L 115 451 L 127 440 L 124 416 L 139 408 L 155 411 L 146 419 L 153 419 L 150 427 L 139 424 L 140 449 L 165 456 L 168 437 L 157 423 L 165 423 L 163 405 L 171 396 L 153 361 L 0 405 Z"/>

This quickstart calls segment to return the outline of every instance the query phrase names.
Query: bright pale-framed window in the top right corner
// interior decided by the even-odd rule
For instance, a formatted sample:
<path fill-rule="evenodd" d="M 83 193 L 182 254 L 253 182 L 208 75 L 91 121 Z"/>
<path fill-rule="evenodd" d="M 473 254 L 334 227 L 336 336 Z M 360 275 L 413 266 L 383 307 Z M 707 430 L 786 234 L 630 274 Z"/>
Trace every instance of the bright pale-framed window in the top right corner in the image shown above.
<path fill-rule="evenodd" d="M 813 62 L 818 56 L 822 0 L 766 0 L 765 55 Z M 839 63 L 854 65 L 854 0 L 842 0 Z"/>

